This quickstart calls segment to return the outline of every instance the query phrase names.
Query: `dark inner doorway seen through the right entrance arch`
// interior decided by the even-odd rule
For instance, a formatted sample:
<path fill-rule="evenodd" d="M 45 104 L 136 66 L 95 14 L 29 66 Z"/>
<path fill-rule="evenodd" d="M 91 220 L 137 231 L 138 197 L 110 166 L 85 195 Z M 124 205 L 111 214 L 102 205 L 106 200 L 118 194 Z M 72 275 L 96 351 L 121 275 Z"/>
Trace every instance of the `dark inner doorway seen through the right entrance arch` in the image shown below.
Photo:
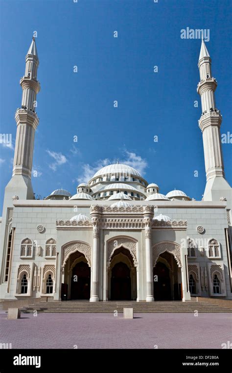
<path fill-rule="evenodd" d="M 155 275 L 157 280 L 155 281 Z M 169 269 L 164 263 L 158 262 L 153 268 L 155 300 L 171 300 L 171 281 Z"/>

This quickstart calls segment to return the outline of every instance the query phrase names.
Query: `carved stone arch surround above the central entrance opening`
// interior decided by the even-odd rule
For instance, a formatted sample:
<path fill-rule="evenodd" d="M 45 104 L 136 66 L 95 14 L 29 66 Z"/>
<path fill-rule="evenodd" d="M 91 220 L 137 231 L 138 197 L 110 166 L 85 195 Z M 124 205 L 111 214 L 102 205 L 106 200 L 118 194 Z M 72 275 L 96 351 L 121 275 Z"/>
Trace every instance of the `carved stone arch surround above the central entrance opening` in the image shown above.
<path fill-rule="evenodd" d="M 134 265 L 137 266 L 137 242 L 138 241 L 126 236 L 116 236 L 113 239 L 109 240 L 107 244 L 107 262 L 111 261 L 112 255 L 114 254 L 116 249 L 124 247 L 125 249 L 130 251 Z"/>

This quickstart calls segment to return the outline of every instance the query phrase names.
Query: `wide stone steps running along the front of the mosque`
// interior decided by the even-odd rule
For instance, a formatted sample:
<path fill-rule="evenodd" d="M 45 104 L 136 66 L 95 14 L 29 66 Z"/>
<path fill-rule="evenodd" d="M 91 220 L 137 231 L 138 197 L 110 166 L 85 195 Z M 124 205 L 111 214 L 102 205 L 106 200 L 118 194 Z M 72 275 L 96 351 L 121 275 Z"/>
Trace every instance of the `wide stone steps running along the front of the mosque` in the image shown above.
<path fill-rule="evenodd" d="M 40 302 L 21 308 L 22 313 L 33 311 L 44 313 L 122 313 L 123 307 L 133 307 L 134 313 L 232 313 L 231 308 L 207 302 L 182 301 L 108 301 L 89 302 L 88 300 L 68 300 Z"/>

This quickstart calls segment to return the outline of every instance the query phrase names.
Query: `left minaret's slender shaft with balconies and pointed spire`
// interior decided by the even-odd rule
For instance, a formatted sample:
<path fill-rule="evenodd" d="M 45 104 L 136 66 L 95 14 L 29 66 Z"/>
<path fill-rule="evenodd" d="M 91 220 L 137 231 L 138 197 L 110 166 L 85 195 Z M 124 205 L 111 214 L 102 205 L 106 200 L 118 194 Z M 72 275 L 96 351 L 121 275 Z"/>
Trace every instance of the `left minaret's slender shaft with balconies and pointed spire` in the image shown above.
<path fill-rule="evenodd" d="M 25 61 L 25 74 L 20 80 L 20 85 L 23 89 L 22 105 L 15 113 L 17 133 L 13 178 L 22 175 L 24 181 L 27 180 L 26 184 L 28 185 L 28 180 L 30 181 L 31 179 L 34 135 L 39 124 L 39 118 L 35 111 L 37 107 L 36 95 L 40 90 L 40 83 L 37 80 L 39 58 L 34 37 L 26 54 Z M 33 198 L 32 187 L 27 198 Z"/>

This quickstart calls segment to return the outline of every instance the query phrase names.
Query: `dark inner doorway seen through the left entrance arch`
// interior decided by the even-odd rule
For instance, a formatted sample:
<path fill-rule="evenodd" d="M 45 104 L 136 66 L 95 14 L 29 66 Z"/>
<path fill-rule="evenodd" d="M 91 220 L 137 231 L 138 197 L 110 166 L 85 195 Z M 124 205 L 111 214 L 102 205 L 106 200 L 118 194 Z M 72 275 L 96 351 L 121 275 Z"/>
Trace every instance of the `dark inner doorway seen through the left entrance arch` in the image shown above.
<path fill-rule="evenodd" d="M 79 262 L 73 267 L 70 299 L 90 299 L 90 277 L 91 269 L 87 263 Z"/>

